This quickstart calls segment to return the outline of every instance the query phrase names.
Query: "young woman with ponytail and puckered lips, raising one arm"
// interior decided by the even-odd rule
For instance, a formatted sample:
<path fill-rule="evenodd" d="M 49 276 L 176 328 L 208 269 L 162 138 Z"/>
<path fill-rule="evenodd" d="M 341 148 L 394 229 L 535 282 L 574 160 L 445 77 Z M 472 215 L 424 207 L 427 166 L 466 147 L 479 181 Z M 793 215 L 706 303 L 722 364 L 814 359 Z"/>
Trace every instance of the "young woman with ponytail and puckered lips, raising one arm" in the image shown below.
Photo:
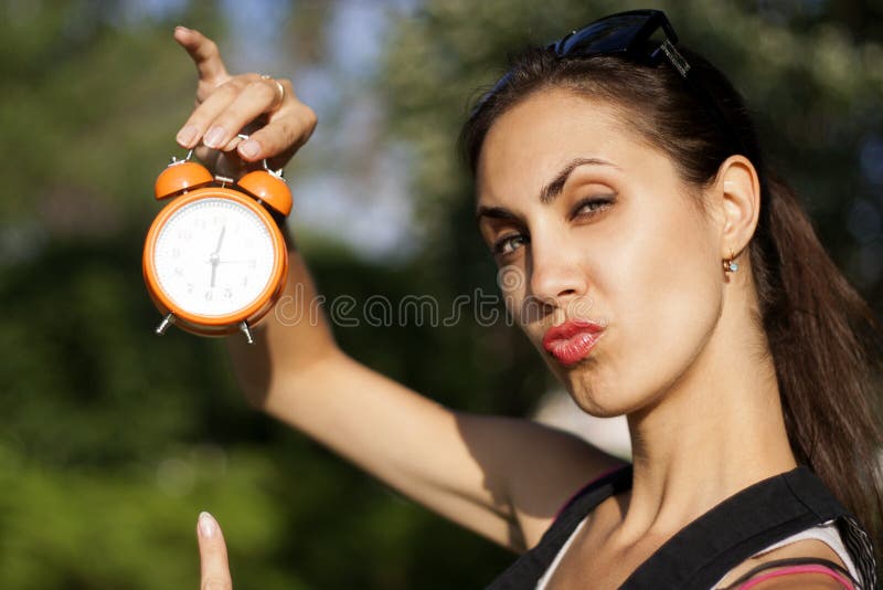
<path fill-rule="evenodd" d="M 309 138 L 289 82 L 175 39 L 200 73 L 183 147 L 284 162 Z M 632 464 L 443 408 L 349 358 L 325 320 L 232 339 L 249 400 L 523 552 L 493 588 L 873 588 L 879 325 L 726 78 L 661 12 L 620 13 L 515 60 L 462 144 L 481 235 L 523 277 L 510 312 L 584 411 L 628 418 Z M 309 305 L 296 250 L 295 285 Z M 217 524 L 198 530 L 204 583 L 228 584 Z"/>

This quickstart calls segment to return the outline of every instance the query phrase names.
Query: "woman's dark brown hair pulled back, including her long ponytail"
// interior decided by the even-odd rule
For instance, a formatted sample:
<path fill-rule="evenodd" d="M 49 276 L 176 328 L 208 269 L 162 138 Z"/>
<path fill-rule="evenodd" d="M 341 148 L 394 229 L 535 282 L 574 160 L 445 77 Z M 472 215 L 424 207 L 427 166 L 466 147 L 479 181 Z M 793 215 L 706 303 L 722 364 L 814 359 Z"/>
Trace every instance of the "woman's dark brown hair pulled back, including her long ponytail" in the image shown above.
<path fill-rule="evenodd" d="M 769 341 L 791 449 L 859 517 L 880 563 L 880 324 L 828 256 L 794 192 L 765 165 L 742 97 L 706 60 L 679 50 L 717 110 L 666 62 L 650 67 L 616 56 L 562 60 L 538 48 L 515 57 L 507 77 L 474 109 L 460 135 L 462 155 L 475 173 L 499 115 L 532 93 L 565 88 L 621 109 L 623 119 L 694 187 L 713 182 L 735 152 L 752 160 L 762 188 L 759 221 L 747 246 L 760 305 L 757 325 Z"/>

